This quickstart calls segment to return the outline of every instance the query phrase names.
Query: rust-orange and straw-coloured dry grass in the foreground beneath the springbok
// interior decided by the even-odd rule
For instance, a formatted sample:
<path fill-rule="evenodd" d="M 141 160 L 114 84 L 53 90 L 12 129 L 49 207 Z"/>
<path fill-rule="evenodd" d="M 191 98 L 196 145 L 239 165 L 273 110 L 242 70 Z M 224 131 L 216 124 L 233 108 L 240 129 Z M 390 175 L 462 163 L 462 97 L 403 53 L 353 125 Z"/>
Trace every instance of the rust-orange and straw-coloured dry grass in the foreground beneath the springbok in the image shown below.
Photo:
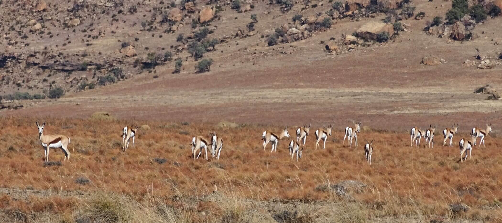
<path fill-rule="evenodd" d="M 126 122 L 48 119 L 44 133 L 69 136 L 72 154 L 71 162 L 44 166 L 35 120 L 0 121 L 1 187 L 51 195 L 4 194 L 4 213 L 51 213 L 65 222 L 79 217 L 96 222 L 238 222 L 253 218 L 250 211 L 255 210 L 271 222 L 283 210 L 296 219 L 291 222 L 502 220 L 502 139 L 492 136 L 486 138 L 486 149 L 476 146 L 473 158 L 458 163 L 458 149 L 441 146 L 442 135 L 436 135 L 434 149 L 417 149 L 409 147 L 407 133 L 361 132 L 359 147 L 350 149 L 341 145 L 343 132 L 334 131 L 326 150 L 313 150 L 311 134 L 296 162 L 288 157 L 290 139 L 279 143 L 277 153 L 270 154 L 270 147 L 263 151 L 261 133 L 280 126 L 230 129 L 146 122 L 141 124 L 151 129 L 140 130 L 138 146 L 124 153 L 120 134 Z M 193 161 L 191 138 L 213 131 L 225 142 L 220 160 Z M 368 166 L 362 144 L 373 138 Z M 60 150 L 51 150 L 50 161 L 63 158 Z M 343 180 L 367 186 L 347 199 L 329 189 Z M 323 184 L 328 189 L 316 189 Z M 469 209 L 451 211 L 453 203 Z"/>

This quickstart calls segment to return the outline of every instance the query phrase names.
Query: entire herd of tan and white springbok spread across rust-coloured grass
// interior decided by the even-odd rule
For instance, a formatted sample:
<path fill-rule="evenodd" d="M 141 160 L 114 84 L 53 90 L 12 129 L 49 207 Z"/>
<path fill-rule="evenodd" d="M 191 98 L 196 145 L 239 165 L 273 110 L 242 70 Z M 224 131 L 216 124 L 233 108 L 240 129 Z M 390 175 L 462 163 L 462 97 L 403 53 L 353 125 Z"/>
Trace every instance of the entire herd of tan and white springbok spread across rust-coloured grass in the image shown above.
<path fill-rule="evenodd" d="M 44 153 L 45 153 L 45 161 L 49 161 L 49 149 L 50 148 L 61 148 L 63 152 L 65 153 L 65 158 L 63 161 L 70 160 L 70 151 L 68 150 L 68 144 L 70 143 L 70 138 L 64 135 L 44 135 L 44 126 L 45 122 L 40 125 L 38 122 L 36 122 L 37 127 L 38 127 L 38 132 L 39 132 L 39 138 L 40 138 L 40 143 L 44 147 Z M 293 139 L 289 143 L 289 155 L 291 156 L 291 160 L 293 160 L 293 157 L 296 153 L 296 161 L 298 161 L 298 158 L 302 158 L 302 152 L 303 149 L 305 148 L 305 142 L 307 141 L 307 136 L 309 136 L 310 132 L 310 124 L 303 125 L 303 127 L 299 127 L 296 129 L 296 139 Z M 352 147 L 352 141 L 355 142 L 355 148 L 357 148 L 357 133 L 360 132 L 360 127 L 361 127 L 361 122 L 354 122 L 354 126 L 347 126 L 345 127 L 345 135 L 343 136 L 343 142 L 342 145 L 345 146 L 345 139 L 347 138 L 347 145 L 349 148 Z M 411 139 L 411 147 L 413 147 L 413 144 L 415 142 L 415 145 L 417 147 L 420 147 L 420 140 L 421 138 L 425 138 L 426 144 L 432 148 L 434 148 L 434 134 L 436 127 L 432 127 L 432 125 L 429 125 L 430 128 L 421 130 L 418 127 L 413 127 L 410 131 L 410 139 Z M 129 143 L 131 139 L 133 139 L 133 147 L 136 147 L 135 145 L 135 136 L 138 132 L 139 126 L 126 126 L 122 129 L 122 151 L 126 151 L 129 147 Z M 315 131 L 315 137 L 316 137 L 316 143 L 315 143 L 315 149 L 317 150 L 317 147 L 319 145 L 319 142 L 322 140 L 323 141 L 323 149 L 326 149 L 326 139 L 328 136 L 331 136 L 331 131 L 333 129 L 333 125 L 328 125 L 328 127 L 323 126 L 322 128 L 319 128 Z M 476 139 L 481 138 L 479 141 L 479 146 L 481 146 L 481 143 L 483 144 L 484 147 L 484 138 L 488 136 L 488 134 L 491 132 L 491 124 L 486 124 L 486 129 L 481 129 L 481 128 L 473 128 L 472 131 L 470 132 L 470 138 L 462 138 L 458 142 L 459 149 L 460 149 L 460 162 L 463 162 L 465 159 L 467 159 L 468 156 L 471 156 L 472 148 L 474 145 L 476 145 Z M 458 124 L 452 125 L 452 128 L 446 128 L 443 130 L 443 146 L 446 146 L 446 141 L 450 139 L 449 146 L 453 146 L 453 136 L 457 134 L 458 132 Z M 219 160 L 221 149 L 223 148 L 223 139 L 217 135 L 216 133 L 210 133 L 210 140 L 206 139 L 204 136 L 195 136 L 192 138 L 192 142 L 190 145 L 192 146 L 192 155 L 193 159 L 196 160 L 199 158 L 199 156 L 202 154 L 202 149 L 205 151 L 205 157 L 206 160 L 208 160 L 208 154 L 207 154 L 207 147 L 211 146 L 211 154 L 212 157 L 214 158 L 216 156 L 216 159 Z M 266 151 L 266 147 L 269 143 L 272 145 L 272 150 L 270 151 L 271 153 L 276 151 L 277 152 L 277 144 L 280 140 L 283 138 L 289 138 L 289 132 L 288 132 L 288 126 L 284 128 L 284 130 L 280 133 L 273 132 L 270 130 L 266 130 L 262 134 L 262 140 L 263 140 L 263 149 Z M 364 154 L 366 157 L 366 161 L 368 164 L 371 164 L 371 154 L 373 152 L 373 140 L 368 142 L 366 140 L 366 144 L 364 145 Z M 467 154 L 467 150 L 469 150 L 469 154 Z M 198 152 L 198 154 L 197 154 Z M 465 153 L 465 157 L 463 154 Z M 196 155 L 197 154 L 197 155 Z"/>

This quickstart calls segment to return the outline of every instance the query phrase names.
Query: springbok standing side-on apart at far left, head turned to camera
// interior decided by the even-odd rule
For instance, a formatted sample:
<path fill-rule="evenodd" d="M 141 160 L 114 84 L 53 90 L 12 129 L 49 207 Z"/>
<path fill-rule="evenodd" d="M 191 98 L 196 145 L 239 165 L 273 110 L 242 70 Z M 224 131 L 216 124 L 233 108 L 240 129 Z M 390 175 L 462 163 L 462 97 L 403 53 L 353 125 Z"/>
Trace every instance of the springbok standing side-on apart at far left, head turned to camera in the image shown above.
<path fill-rule="evenodd" d="M 38 122 L 35 122 L 38 127 L 38 134 L 40 136 L 40 143 L 44 147 L 45 153 L 45 161 L 49 162 L 49 149 L 50 148 L 61 148 L 65 153 L 65 160 L 70 161 L 70 151 L 68 150 L 68 144 L 70 143 L 70 138 L 64 135 L 44 135 L 44 124 L 40 125 Z"/>

